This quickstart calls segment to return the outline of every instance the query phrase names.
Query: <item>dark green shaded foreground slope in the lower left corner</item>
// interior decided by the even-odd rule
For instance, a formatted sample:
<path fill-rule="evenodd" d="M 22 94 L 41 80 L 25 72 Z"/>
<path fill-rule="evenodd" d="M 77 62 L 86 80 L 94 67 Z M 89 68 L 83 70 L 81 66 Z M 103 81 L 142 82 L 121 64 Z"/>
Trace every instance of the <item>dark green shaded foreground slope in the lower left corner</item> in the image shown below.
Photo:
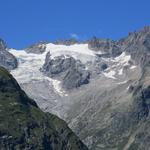
<path fill-rule="evenodd" d="M 1 150 L 87 150 L 58 117 L 42 112 L 0 67 Z"/>

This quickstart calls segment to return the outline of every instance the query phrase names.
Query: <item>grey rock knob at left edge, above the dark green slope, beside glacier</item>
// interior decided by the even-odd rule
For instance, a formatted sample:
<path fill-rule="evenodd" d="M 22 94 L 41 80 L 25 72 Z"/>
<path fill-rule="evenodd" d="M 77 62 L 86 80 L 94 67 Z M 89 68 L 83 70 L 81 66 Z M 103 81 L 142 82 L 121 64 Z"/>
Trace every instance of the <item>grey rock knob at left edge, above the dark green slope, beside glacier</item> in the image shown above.
<path fill-rule="evenodd" d="M 0 39 L 0 66 L 5 67 L 8 70 L 17 68 L 18 62 L 15 56 L 7 51 L 6 44 Z"/>

